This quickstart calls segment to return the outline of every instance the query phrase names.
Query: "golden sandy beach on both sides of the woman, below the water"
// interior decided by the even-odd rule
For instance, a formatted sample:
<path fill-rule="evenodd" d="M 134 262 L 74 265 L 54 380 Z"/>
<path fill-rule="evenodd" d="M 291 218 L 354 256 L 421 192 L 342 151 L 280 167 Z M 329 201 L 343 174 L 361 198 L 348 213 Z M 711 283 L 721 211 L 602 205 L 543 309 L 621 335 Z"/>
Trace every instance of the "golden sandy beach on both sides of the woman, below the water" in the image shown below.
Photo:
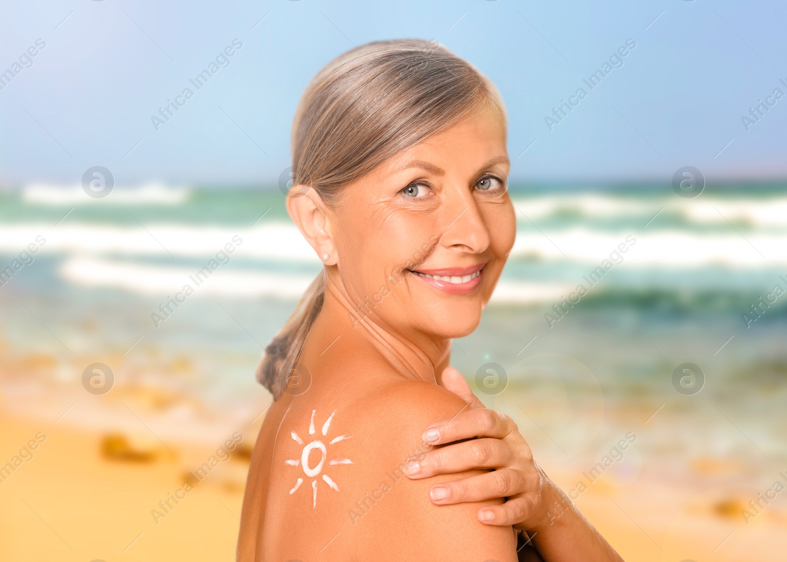
<path fill-rule="evenodd" d="M 178 494 L 185 499 L 170 500 L 164 516 L 152 515 L 164 513 L 159 502 L 194 482 L 188 473 L 215 449 L 131 439 L 110 451 L 107 434 L 62 420 L 39 423 L 6 413 L 0 423 L 4 461 L 35 434 L 46 436 L 34 457 L 0 483 L 7 507 L 0 515 L 2 560 L 234 560 L 248 447 L 261 418 L 246 428 L 231 459 Z M 582 479 L 546 469 L 566 490 Z M 626 560 L 781 560 L 779 529 L 787 515 L 775 502 L 747 526 L 742 498 L 727 497 L 725 504 L 708 490 L 682 502 L 689 494 L 642 478 L 622 488 L 599 480 L 576 503 Z"/>

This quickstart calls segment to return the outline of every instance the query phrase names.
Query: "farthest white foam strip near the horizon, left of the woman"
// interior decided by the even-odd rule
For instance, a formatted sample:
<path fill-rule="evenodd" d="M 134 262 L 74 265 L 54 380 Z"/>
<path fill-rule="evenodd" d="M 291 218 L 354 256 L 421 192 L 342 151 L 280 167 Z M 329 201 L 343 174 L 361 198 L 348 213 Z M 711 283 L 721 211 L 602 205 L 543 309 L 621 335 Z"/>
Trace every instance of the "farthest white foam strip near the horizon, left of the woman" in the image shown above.
<path fill-rule="evenodd" d="M 191 194 L 188 187 L 170 187 L 163 183 L 145 183 L 139 187 L 115 186 L 103 198 L 88 197 L 82 186 L 57 186 L 31 183 L 24 187 L 22 198 L 40 205 L 180 205 Z"/>

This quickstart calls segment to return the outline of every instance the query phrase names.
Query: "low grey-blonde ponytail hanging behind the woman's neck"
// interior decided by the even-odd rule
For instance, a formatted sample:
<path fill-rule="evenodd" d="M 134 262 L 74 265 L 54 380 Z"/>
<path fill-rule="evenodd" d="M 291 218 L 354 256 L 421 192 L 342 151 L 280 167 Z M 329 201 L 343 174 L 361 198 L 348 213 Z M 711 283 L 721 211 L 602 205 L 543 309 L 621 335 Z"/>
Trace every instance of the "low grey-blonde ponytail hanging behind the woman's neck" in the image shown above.
<path fill-rule="evenodd" d="M 274 400 L 287 388 L 287 379 L 301 356 L 306 336 L 325 299 L 325 270 L 316 276 L 306 290 L 284 327 L 265 348 L 265 355 L 257 367 L 257 381 L 273 394 Z"/>

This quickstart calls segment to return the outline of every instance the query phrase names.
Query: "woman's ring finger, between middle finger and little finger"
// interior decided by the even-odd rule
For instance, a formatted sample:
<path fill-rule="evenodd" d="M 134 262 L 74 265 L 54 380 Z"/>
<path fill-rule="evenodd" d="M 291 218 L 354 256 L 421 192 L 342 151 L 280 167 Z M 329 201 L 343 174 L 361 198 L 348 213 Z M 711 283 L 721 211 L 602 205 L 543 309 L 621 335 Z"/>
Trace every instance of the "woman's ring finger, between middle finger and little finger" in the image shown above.
<path fill-rule="evenodd" d="M 435 484 L 429 489 L 429 499 L 437 505 L 458 504 L 464 501 L 511 497 L 523 494 L 527 488 L 527 475 L 523 471 L 501 468 L 486 474 Z M 517 522 L 522 520 L 516 519 Z"/>

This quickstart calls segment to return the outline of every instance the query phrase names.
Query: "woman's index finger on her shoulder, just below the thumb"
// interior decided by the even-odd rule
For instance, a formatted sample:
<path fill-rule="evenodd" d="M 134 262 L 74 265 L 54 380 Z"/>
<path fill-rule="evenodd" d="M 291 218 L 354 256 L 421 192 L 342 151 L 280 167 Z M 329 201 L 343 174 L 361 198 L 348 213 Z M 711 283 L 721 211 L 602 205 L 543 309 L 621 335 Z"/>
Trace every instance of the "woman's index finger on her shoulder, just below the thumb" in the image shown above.
<path fill-rule="evenodd" d="M 474 437 L 504 438 L 512 431 L 516 431 L 516 424 L 505 414 L 486 408 L 465 409 L 453 418 L 431 423 L 421 438 L 441 445 Z"/>

